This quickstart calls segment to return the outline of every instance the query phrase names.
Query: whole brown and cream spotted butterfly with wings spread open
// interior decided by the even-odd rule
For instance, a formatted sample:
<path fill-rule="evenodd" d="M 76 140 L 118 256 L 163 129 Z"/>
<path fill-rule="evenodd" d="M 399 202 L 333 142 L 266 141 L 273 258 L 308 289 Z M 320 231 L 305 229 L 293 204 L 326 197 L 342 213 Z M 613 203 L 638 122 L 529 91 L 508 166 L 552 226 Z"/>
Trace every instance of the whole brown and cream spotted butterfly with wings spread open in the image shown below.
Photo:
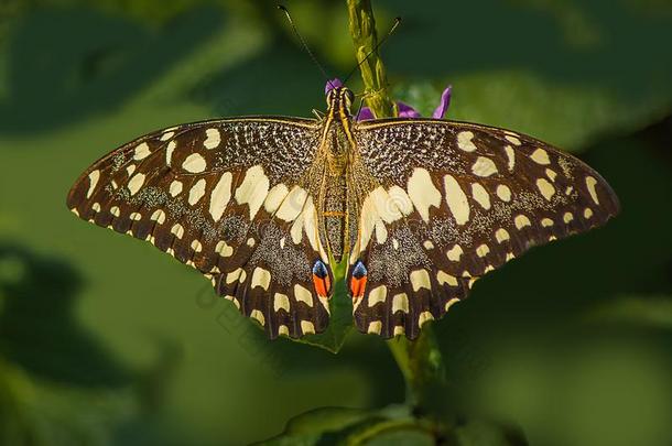
<path fill-rule="evenodd" d="M 270 338 L 322 333 L 345 266 L 357 328 L 414 339 L 474 282 L 604 225 L 618 198 L 576 157 L 441 119 L 242 117 L 163 129 L 94 163 L 80 218 L 148 240 L 210 279 Z"/>

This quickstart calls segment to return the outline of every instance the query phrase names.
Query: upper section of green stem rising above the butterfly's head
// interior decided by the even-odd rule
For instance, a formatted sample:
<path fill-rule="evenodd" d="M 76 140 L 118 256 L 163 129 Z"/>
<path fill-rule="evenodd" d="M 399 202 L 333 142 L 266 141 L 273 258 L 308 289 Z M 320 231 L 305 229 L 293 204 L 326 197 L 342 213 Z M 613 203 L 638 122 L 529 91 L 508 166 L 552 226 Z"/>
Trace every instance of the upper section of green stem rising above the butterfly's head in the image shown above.
<path fill-rule="evenodd" d="M 388 78 L 378 51 L 376 20 L 370 0 L 347 0 L 350 36 L 365 85 L 365 101 L 376 118 L 397 116 L 394 102 L 388 95 Z"/>

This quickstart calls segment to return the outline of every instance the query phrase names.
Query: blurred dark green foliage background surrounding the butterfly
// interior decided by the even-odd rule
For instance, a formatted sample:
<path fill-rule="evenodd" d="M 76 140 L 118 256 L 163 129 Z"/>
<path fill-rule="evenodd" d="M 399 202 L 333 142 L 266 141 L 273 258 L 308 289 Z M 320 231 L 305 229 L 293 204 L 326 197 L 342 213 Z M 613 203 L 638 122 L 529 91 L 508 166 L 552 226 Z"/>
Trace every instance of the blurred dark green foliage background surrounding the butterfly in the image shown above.
<path fill-rule="evenodd" d="M 347 73 L 345 2 L 285 4 Z M 429 113 L 449 83 L 448 118 L 576 153 L 624 208 L 489 274 L 435 324 L 452 389 L 437 398 L 532 445 L 672 444 L 672 2 L 373 7 L 381 32 L 404 19 L 382 51 L 398 99 Z M 378 337 L 350 333 L 337 355 L 267 341 L 193 270 L 64 205 L 140 134 L 311 116 L 323 88 L 273 1 L 0 0 L 1 445 L 236 445 L 315 407 L 403 401 Z"/>

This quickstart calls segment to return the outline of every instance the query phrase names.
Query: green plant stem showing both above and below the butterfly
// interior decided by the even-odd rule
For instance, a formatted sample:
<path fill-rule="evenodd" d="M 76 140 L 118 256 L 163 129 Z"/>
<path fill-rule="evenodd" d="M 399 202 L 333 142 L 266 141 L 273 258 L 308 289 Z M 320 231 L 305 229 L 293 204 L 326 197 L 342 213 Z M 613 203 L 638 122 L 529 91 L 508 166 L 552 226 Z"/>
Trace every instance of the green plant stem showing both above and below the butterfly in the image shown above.
<path fill-rule="evenodd" d="M 376 45 L 376 21 L 370 0 L 347 0 L 350 35 L 360 63 L 367 106 L 377 118 L 397 116 L 387 88 L 387 75 Z M 436 391 L 445 388 L 445 369 L 436 337 L 425 325 L 414 341 L 395 338 L 388 341 L 407 383 L 407 402 L 416 411 L 431 411 Z M 434 396 L 434 399 L 432 399 Z"/>

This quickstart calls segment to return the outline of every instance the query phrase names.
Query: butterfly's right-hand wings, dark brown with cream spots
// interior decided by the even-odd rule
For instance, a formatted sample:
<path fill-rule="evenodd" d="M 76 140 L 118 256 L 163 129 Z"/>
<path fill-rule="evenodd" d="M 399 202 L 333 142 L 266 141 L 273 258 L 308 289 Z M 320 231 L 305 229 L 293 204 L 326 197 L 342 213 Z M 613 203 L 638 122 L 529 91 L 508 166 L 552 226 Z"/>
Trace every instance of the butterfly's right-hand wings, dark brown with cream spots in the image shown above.
<path fill-rule="evenodd" d="M 366 121 L 354 134 L 354 172 L 371 176 L 351 181 L 348 281 L 364 333 L 415 338 L 488 271 L 618 213 L 594 170 L 530 137 L 432 119 Z"/>

